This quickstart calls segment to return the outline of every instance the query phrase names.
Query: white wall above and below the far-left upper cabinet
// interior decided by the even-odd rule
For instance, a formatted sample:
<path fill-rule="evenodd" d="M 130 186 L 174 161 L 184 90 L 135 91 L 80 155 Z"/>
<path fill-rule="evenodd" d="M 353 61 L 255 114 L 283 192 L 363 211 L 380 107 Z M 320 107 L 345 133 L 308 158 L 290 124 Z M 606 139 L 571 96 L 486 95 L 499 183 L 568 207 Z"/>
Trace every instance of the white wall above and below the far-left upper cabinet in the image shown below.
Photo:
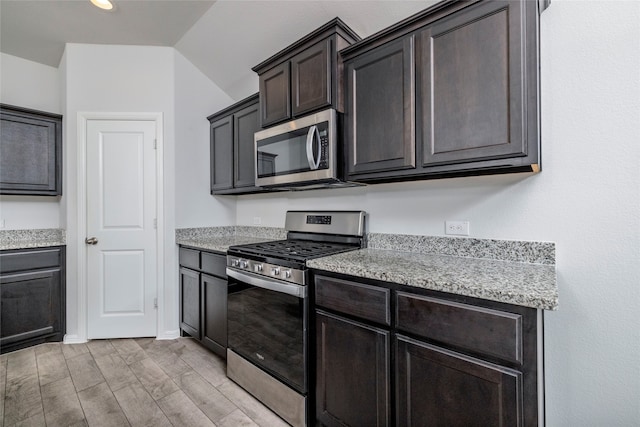
<path fill-rule="evenodd" d="M 58 69 L 0 53 L 0 102 L 60 114 Z M 0 196 L 0 226 L 60 228 L 60 208 L 58 197 Z"/>

